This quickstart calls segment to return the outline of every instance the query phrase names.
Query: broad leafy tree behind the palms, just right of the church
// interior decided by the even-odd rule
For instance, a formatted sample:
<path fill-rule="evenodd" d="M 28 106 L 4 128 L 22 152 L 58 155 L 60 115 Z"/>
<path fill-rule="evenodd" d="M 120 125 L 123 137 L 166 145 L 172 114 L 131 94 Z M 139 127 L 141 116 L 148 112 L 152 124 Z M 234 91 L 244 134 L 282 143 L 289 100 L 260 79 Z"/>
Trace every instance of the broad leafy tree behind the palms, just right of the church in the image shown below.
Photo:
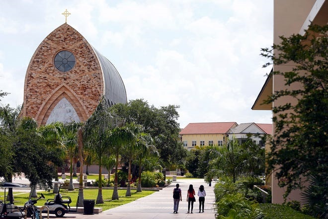
<path fill-rule="evenodd" d="M 127 104 L 116 104 L 112 108 L 117 115 L 126 119 L 126 122 L 135 122 L 144 127 L 144 133 L 150 134 L 154 139 L 160 158 L 166 166 L 182 164 L 186 150 L 178 137 L 178 106 L 168 105 L 158 109 L 143 99 L 136 99 Z"/>

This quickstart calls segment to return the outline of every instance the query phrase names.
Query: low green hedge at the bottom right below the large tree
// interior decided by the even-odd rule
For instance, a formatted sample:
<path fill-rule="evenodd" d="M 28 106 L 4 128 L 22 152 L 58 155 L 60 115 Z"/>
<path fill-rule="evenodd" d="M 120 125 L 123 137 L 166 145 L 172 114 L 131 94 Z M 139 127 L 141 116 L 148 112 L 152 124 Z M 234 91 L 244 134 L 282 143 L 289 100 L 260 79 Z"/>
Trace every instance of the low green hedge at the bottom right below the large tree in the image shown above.
<path fill-rule="evenodd" d="M 260 211 L 265 219 L 315 219 L 295 211 L 289 206 L 278 204 L 259 204 Z"/>

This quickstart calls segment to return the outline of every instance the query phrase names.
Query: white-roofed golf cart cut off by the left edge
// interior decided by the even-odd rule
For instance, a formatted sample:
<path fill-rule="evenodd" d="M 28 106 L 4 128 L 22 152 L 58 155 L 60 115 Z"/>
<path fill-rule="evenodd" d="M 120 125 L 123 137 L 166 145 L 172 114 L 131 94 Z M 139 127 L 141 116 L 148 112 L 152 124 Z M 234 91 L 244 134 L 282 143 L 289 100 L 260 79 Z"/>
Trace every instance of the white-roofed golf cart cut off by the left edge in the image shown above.
<path fill-rule="evenodd" d="M 18 208 L 13 203 L 5 203 L 6 195 L 5 190 L 7 188 L 29 188 L 26 185 L 12 182 L 1 183 L 0 186 L 4 188 L 4 202 L 0 201 L 0 218 L 10 218 L 10 219 L 21 219 L 25 218 L 26 214 L 24 210 Z"/>

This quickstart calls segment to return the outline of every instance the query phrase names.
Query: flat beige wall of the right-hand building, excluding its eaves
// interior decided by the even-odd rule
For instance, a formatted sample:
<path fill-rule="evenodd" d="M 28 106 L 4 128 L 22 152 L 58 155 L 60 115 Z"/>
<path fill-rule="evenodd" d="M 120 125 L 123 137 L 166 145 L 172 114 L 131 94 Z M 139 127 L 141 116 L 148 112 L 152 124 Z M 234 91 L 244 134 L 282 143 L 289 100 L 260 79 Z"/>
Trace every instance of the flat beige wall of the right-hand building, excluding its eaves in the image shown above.
<path fill-rule="evenodd" d="M 273 43 L 279 44 L 281 40 L 279 36 L 289 37 L 292 34 L 298 34 L 303 23 L 305 22 L 308 14 L 310 13 L 316 0 L 275 0 L 274 1 L 274 37 Z M 293 68 L 293 64 L 273 66 L 273 71 L 290 71 Z M 279 75 L 273 76 L 273 92 L 276 90 L 285 89 L 284 79 Z M 297 88 L 295 85 L 292 89 Z M 286 102 L 295 102 L 289 98 L 280 98 L 274 102 L 274 106 L 283 105 Z M 275 116 L 275 115 L 273 115 Z M 275 126 L 273 126 L 275 128 Z M 283 179 L 284 180 L 284 179 Z M 274 173 L 271 175 L 271 189 L 272 189 L 272 203 L 283 203 L 283 194 L 285 188 L 278 186 L 278 180 L 274 177 Z M 287 202 L 291 200 L 301 201 L 300 191 L 293 191 L 288 197 Z"/>

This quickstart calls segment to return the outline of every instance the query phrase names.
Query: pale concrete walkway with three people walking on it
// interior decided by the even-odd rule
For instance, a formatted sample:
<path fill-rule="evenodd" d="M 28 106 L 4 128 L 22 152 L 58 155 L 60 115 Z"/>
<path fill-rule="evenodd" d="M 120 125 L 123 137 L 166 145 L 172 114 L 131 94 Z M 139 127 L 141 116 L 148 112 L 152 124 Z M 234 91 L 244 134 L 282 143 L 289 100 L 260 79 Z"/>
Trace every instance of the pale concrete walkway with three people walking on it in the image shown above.
<path fill-rule="evenodd" d="M 24 179 L 15 179 L 17 183 L 23 183 Z M 179 183 L 182 191 L 182 202 L 179 203 L 178 214 L 173 214 L 173 189 L 175 184 Z M 189 184 L 192 184 L 196 192 L 196 202 L 194 203 L 193 214 L 188 214 L 187 190 Z M 204 185 L 206 191 L 204 213 L 199 212 L 198 188 Z M 64 218 L 68 219 L 215 219 L 215 196 L 214 185 L 208 186 L 204 179 L 177 179 L 169 186 L 159 192 L 143 197 L 134 202 L 104 211 L 100 214 L 66 214 Z M 96 207 L 96 206 L 95 206 Z M 55 219 L 54 215 L 50 216 Z"/>

